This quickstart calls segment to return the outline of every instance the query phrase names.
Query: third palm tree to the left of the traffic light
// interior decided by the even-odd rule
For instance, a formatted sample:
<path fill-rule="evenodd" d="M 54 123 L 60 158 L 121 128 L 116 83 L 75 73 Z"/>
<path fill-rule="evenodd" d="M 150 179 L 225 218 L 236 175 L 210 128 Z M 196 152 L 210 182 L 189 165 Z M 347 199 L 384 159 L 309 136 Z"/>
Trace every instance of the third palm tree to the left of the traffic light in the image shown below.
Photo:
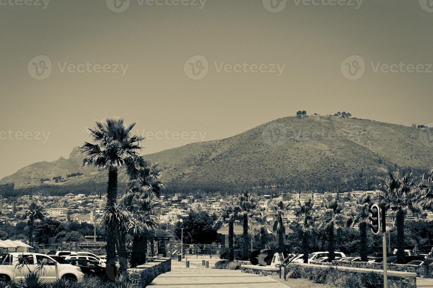
<path fill-rule="evenodd" d="M 302 237 L 302 253 L 304 253 L 304 263 L 308 263 L 308 254 L 310 253 L 309 240 L 311 234 L 315 230 L 316 222 L 316 208 L 314 208 L 314 202 L 312 199 L 308 199 L 305 203 L 298 201 L 298 206 L 295 210 L 294 215 L 296 216 L 296 222 L 292 223 L 292 226 L 298 229 Z"/>

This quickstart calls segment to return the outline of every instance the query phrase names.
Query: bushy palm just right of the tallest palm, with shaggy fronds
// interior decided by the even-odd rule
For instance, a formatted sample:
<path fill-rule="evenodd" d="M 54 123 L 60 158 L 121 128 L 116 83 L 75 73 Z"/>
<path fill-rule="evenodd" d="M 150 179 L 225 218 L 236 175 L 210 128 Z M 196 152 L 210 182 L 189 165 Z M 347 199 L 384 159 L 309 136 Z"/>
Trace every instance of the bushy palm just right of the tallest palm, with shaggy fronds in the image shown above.
<path fill-rule="evenodd" d="M 158 227 L 155 213 L 161 208 L 161 203 L 157 195 L 164 187 L 158 180 L 161 171 L 158 163 L 150 165 L 142 157 L 136 165 L 130 165 L 126 170 L 129 190 L 123 195 L 122 201 L 135 220 L 130 222 L 129 231 L 132 234 L 132 262 L 136 265 L 145 263 L 147 234 L 152 228 Z"/>

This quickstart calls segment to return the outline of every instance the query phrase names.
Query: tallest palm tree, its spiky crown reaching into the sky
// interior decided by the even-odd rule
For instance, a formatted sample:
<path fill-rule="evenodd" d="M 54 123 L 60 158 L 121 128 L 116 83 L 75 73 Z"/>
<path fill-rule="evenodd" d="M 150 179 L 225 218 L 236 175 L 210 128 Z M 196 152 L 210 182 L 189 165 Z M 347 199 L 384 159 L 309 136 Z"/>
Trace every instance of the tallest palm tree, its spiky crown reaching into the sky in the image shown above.
<path fill-rule="evenodd" d="M 86 157 L 84 166 L 94 166 L 100 170 L 108 170 L 107 207 L 106 212 L 115 212 L 117 201 L 117 174 L 124 165 L 132 165 L 139 157 L 137 150 L 142 149 L 139 142 L 144 140 L 140 135 L 131 135 L 136 123 L 125 125 L 123 118 L 107 118 L 96 121 L 94 128 L 87 128 L 93 143 L 84 142 L 80 152 Z M 115 217 L 113 215 L 113 217 Z M 114 223 L 114 222 L 109 222 Z M 105 231 L 107 236 L 107 261 L 116 254 L 116 235 L 113 227 Z"/>

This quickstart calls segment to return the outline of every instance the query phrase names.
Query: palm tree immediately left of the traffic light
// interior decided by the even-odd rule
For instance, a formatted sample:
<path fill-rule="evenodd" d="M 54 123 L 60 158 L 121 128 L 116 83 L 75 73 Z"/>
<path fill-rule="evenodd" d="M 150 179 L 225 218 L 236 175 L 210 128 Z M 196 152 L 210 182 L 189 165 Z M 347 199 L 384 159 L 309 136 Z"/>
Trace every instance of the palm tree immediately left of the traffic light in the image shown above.
<path fill-rule="evenodd" d="M 359 226 L 359 255 L 363 262 L 366 262 L 368 257 L 367 225 L 370 222 L 368 211 L 372 204 L 372 199 L 368 194 L 363 195 L 360 199 L 352 198 L 351 209 L 347 213 L 347 226 L 350 227 L 352 224 Z"/>

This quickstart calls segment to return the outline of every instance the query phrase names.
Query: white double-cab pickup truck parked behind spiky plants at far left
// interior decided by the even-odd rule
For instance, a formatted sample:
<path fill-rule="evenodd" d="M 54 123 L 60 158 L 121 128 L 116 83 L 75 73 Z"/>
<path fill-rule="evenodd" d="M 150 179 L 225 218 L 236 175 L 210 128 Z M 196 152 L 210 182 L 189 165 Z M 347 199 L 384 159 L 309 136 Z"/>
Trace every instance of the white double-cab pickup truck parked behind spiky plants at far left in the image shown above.
<path fill-rule="evenodd" d="M 19 257 L 26 257 L 26 265 L 19 265 Z M 41 267 L 39 264 L 44 263 Z M 38 269 L 38 266 L 40 269 Z M 9 253 L 0 263 L 0 280 L 14 281 L 24 279 L 29 272 L 38 272 L 43 282 L 55 282 L 65 278 L 72 281 L 83 281 L 80 267 L 71 264 L 60 264 L 50 256 L 39 253 Z"/>

